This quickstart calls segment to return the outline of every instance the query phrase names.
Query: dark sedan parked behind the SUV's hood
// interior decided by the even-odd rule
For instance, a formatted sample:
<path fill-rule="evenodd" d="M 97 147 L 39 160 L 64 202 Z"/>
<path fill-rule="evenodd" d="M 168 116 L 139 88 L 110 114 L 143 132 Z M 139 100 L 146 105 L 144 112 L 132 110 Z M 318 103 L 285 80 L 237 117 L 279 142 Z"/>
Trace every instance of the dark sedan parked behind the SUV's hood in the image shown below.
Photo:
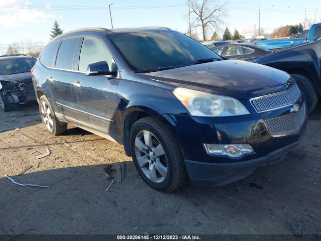
<path fill-rule="evenodd" d="M 212 48 L 212 50 L 227 59 L 254 60 L 271 53 L 266 46 L 256 44 L 227 44 Z"/>

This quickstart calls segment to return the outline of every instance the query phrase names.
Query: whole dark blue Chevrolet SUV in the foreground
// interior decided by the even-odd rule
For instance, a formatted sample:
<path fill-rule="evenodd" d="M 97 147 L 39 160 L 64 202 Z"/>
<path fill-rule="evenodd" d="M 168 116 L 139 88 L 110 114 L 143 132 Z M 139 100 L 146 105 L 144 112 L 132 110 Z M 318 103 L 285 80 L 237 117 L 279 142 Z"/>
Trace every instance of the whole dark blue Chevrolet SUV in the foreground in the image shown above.
<path fill-rule="evenodd" d="M 223 60 L 166 28 L 82 29 L 53 39 L 33 73 L 42 120 L 122 144 L 151 187 L 221 186 L 282 160 L 306 108 L 285 72 Z"/>

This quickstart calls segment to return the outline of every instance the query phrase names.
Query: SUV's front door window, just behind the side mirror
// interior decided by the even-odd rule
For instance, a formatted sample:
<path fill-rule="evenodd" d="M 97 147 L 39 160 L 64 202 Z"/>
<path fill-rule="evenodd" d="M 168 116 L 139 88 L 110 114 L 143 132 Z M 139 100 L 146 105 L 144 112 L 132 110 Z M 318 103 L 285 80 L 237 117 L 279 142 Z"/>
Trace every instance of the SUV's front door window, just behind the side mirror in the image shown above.
<path fill-rule="evenodd" d="M 79 71 L 86 71 L 89 64 L 100 61 L 106 61 L 111 69 L 112 57 L 105 45 L 98 39 L 85 38 L 81 46 Z"/>

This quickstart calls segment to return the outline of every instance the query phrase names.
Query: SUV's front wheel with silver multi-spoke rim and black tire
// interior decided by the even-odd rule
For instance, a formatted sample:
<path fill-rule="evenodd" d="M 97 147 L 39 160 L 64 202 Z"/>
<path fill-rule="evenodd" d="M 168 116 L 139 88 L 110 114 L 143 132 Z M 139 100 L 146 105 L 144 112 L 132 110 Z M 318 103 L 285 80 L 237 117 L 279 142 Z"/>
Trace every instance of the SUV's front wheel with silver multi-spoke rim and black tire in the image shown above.
<path fill-rule="evenodd" d="M 153 117 L 139 119 L 130 130 L 134 164 L 152 188 L 171 192 L 187 181 L 180 148 L 165 126 Z"/>

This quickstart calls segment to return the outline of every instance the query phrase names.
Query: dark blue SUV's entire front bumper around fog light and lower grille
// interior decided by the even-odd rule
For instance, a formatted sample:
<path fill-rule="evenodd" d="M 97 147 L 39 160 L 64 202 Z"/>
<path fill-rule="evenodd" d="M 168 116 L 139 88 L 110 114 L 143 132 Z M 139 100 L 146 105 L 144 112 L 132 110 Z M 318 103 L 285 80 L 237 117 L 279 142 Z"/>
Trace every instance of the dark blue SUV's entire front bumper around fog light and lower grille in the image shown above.
<path fill-rule="evenodd" d="M 303 99 L 298 104 L 302 108 Z M 169 117 L 174 124 L 172 128 L 191 182 L 197 186 L 223 186 L 250 175 L 258 166 L 281 161 L 299 144 L 306 132 L 306 112 L 295 133 L 275 137 L 264 124 L 266 119 L 289 114 L 290 107 L 285 107 L 221 119 L 182 115 Z M 245 154 L 240 158 L 209 155 L 203 144 L 250 144 L 254 153 Z"/>

